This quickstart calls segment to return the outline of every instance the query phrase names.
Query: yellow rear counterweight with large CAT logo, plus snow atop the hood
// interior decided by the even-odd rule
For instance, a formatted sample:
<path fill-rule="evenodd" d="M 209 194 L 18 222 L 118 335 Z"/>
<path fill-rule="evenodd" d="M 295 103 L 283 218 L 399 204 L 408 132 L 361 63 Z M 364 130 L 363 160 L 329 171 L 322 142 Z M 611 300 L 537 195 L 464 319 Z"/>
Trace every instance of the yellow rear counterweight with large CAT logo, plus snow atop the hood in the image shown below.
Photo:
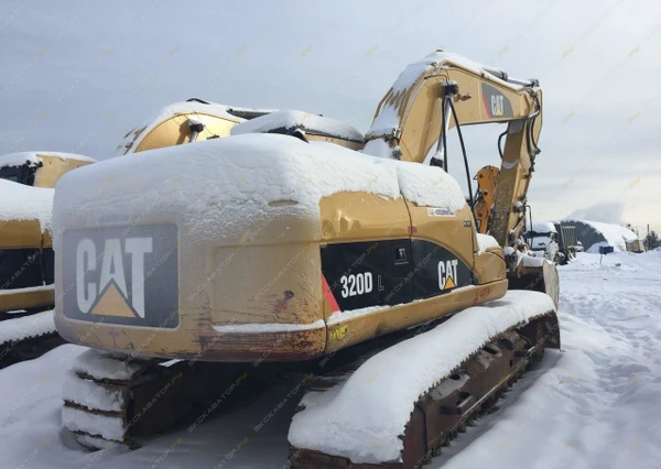
<path fill-rule="evenodd" d="M 403 206 L 392 163 L 292 137 L 248 134 L 65 175 L 53 222 L 59 334 L 155 357 L 323 353 L 333 308 L 322 286 L 319 244 L 333 226 L 324 226 L 319 206 L 338 193 Z M 420 166 L 398 164 L 413 173 Z M 438 181 L 430 179 L 426 194 L 447 192 Z M 460 190 L 457 197 L 465 205 Z M 390 220 L 381 217 L 386 231 Z M 407 218 L 401 229 L 408 226 Z"/>

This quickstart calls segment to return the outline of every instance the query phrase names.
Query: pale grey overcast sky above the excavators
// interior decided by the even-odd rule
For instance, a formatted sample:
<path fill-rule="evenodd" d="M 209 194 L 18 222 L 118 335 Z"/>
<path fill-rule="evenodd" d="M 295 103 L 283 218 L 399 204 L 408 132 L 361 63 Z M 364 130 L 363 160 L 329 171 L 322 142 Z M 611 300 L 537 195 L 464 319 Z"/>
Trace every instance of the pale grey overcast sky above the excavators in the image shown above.
<path fill-rule="evenodd" d="M 540 79 L 535 219 L 661 230 L 658 0 L 2 0 L 0 154 L 104 160 L 191 97 L 366 131 L 398 74 L 438 47 Z M 466 131 L 474 172 L 499 163 L 500 131 Z"/>

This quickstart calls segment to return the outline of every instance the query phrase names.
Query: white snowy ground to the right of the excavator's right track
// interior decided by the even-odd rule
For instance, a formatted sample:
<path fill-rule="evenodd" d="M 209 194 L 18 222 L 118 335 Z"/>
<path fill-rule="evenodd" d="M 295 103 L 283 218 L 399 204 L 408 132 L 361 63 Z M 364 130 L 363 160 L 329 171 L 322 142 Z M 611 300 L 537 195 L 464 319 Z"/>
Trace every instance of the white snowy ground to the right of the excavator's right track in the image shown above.
<path fill-rule="evenodd" d="M 661 253 L 598 262 L 560 268 L 562 351 L 431 467 L 659 467 Z"/>

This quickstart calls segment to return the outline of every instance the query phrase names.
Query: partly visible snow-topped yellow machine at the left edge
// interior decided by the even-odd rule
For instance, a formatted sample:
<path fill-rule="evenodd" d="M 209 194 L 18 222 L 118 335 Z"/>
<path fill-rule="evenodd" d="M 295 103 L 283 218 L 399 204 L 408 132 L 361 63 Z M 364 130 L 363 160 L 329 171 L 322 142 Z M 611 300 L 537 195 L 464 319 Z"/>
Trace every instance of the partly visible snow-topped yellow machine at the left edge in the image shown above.
<path fill-rule="evenodd" d="M 0 367 L 62 343 L 55 332 L 53 187 L 94 160 L 71 153 L 0 156 Z"/>

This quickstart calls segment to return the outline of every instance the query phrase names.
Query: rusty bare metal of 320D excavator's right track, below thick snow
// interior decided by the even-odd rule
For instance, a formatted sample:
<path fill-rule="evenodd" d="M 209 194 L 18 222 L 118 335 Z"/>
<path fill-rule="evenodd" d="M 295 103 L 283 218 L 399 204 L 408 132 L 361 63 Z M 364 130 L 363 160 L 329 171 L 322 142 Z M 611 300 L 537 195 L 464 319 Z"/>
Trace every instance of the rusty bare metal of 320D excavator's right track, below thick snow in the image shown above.
<path fill-rule="evenodd" d="M 354 462 L 347 457 L 328 455 L 314 449 L 290 445 L 290 462 L 297 469 L 409 469 L 429 463 L 443 447 L 480 415 L 495 411 L 498 400 L 534 363 L 544 348 L 560 348 L 555 312 L 548 312 L 527 325 L 510 328 L 469 357 L 447 377 L 430 388 L 415 402 L 410 419 L 399 438 L 403 441 L 397 461 Z M 306 392 L 327 392 L 342 385 L 357 367 L 348 364 L 333 377 L 310 380 Z M 299 412 L 305 407 L 297 408 Z"/>

